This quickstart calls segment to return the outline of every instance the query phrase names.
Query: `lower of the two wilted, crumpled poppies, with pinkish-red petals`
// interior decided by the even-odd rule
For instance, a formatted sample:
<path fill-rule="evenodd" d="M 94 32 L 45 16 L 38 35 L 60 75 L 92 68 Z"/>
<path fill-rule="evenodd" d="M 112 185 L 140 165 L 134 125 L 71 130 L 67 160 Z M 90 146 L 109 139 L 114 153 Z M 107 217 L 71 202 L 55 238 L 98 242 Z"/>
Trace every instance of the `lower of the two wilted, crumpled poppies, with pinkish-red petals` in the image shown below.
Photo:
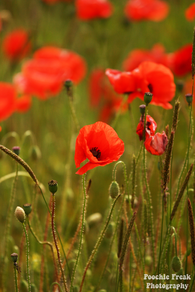
<path fill-rule="evenodd" d="M 144 142 L 145 148 L 152 155 L 162 155 L 165 152 L 168 138 L 165 132 L 156 133 L 154 136 L 148 136 Z"/>

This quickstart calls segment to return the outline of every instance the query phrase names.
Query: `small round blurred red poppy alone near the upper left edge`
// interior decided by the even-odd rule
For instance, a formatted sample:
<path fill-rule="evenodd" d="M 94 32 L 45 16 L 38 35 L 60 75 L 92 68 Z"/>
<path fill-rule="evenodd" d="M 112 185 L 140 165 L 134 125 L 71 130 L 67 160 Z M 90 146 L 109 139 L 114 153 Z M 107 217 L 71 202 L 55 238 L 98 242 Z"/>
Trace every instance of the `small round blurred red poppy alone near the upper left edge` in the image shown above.
<path fill-rule="evenodd" d="M 31 49 L 29 36 L 25 30 L 14 30 L 9 33 L 5 36 L 2 46 L 5 55 L 11 60 L 22 59 Z"/>

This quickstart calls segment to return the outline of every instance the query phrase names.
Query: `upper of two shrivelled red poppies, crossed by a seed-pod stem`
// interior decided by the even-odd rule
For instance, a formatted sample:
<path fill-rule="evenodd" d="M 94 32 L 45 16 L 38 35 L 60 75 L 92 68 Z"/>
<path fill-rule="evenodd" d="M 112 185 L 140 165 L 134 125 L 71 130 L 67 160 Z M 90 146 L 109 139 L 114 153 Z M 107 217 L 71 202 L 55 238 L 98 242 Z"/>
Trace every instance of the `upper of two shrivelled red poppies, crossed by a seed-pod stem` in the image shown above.
<path fill-rule="evenodd" d="M 151 116 L 147 115 L 146 116 L 146 137 L 154 136 L 156 128 L 157 128 L 157 123 L 155 122 L 155 120 Z M 143 138 L 143 130 L 144 130 L 144 116 L 141 116 L 140 121 L 137 125 L 137 129 L 136 129 L 136 133 L 139 135 L 140 141 Z"/>

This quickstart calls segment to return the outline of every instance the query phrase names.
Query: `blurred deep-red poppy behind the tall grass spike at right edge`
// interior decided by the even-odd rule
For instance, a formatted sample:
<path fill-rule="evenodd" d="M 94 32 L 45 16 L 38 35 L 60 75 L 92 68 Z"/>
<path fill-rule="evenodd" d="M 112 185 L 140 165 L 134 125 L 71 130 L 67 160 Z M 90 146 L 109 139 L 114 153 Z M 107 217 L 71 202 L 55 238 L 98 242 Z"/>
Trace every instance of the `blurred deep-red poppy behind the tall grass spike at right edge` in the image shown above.
<path fill-rule="evenodd" d="M 187 44 L 169 55 L 169 68 L 175 75 L 183 76 L 192 72 L 192 44 Z"/>

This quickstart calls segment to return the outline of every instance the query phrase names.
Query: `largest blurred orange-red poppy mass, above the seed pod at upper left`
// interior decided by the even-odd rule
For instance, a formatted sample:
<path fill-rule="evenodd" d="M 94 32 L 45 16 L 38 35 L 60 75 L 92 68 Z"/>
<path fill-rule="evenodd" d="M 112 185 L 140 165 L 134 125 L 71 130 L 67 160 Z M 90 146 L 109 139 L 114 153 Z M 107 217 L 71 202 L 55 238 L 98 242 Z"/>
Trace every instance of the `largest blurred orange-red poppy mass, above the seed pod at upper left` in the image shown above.
<path fill-rule="evenodd" d="M 59 93 L 67 79 L 78 84 L 86 74 L 86 63 L 74 52 L 56 47 L 43 47 L 34 59 L 24 63 L 22 73 L 14 77 L 19 92 L 41 99 Z"/>

